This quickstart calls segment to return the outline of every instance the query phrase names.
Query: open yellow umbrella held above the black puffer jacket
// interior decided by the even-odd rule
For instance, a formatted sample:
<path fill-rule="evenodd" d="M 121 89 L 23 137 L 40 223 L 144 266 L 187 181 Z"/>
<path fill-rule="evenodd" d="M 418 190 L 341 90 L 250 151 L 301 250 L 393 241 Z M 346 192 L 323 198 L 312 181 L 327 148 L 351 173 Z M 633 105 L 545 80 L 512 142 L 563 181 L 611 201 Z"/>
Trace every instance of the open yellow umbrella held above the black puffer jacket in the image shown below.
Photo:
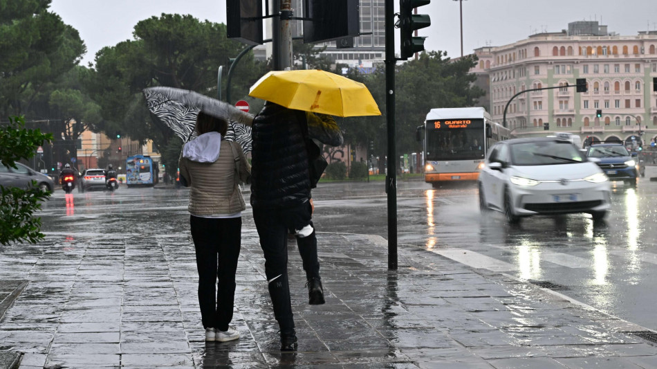
<path fill-rule="evenodd" d="M 364 84 L 319 69 L 269 72 L 255 82 L 249 96 L 332 116 L 381 115 Z"/>

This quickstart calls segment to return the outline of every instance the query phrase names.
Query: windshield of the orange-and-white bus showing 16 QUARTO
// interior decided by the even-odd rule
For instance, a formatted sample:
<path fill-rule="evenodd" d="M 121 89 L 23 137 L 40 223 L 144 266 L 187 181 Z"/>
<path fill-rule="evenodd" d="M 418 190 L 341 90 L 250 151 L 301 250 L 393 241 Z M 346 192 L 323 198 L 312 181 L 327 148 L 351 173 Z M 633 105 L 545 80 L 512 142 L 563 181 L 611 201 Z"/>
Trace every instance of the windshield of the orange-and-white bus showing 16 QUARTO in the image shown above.
<path fill-rule="evenodd" d="M 483 119 L 427 121 L 426 127 L 427 160 L 484 158 Z"/>

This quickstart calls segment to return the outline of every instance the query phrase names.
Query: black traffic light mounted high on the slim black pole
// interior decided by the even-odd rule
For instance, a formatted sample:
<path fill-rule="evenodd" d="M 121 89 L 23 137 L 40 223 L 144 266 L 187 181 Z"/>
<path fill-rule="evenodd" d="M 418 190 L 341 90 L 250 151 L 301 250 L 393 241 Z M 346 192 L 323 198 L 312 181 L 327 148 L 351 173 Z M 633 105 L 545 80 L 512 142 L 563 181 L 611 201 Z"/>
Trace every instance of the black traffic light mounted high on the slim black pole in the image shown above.
<path fill-rule="evenodd" d="M 414 53 L 419 53 L 425 49 L 425 39 L 427 37 L 416 37 L 413 33 L 415 30 L 430 26 L 431 18 L 428 14 L 413 14 L 413 9 L 427 5 L 430 2 L 431 0 L 399 0 L 402 59 L 408 59 Z"/>

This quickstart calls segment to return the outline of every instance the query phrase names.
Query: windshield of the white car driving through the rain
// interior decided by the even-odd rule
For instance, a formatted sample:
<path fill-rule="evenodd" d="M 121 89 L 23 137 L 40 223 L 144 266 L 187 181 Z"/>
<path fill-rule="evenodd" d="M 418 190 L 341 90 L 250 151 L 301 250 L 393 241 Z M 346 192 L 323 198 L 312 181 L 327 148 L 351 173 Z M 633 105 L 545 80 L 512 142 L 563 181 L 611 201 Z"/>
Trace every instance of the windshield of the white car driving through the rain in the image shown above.
<path fill-rule="evenodd" d="M 577 147 L 568 141 L 530 141 L 510 145 L 513 165 L 553 165 L 584 161 Z"/>

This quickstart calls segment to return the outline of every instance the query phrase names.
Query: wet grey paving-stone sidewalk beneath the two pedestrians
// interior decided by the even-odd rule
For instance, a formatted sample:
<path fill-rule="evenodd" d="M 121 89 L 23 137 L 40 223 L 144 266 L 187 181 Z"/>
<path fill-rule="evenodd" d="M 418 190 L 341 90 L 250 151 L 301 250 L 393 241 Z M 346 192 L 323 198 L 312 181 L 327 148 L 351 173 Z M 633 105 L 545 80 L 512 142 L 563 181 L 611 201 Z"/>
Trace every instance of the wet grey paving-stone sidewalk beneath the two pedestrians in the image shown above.
<path fill-rule="evenodd" d="M 243 229 L 241 338 L 205 343 L 188 235 L 98 238 L 0 254 L 1 281 L 29 281 L 0 321 L 0 352 L 22 353 L 20 368 L 657 368 L 657 346 L 627 333 L 642 327 L 417 248 L 400 245 L 387 271 L 372 235 L 318 235 L 321 306 L 307 305 L 292 242 L 299 352 L 281 354 L 257 233 Z"/>

